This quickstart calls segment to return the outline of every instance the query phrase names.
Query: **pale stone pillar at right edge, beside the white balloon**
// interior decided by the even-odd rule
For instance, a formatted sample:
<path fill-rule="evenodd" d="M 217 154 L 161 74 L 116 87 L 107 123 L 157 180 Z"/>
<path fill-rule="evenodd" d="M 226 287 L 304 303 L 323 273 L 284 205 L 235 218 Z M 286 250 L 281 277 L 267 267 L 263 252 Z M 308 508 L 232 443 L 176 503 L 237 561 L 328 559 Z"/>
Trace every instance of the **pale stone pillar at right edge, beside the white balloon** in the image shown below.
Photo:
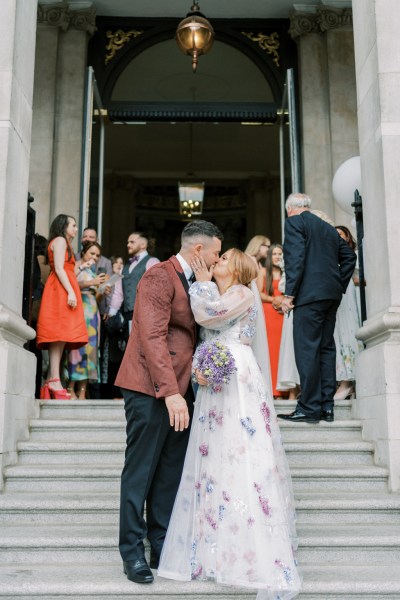
<path fill-rule="evenodd" d="M 357 365 L 357 416 L 400 489 L 400 11 L 353 0 L 368 319 Z"/>

